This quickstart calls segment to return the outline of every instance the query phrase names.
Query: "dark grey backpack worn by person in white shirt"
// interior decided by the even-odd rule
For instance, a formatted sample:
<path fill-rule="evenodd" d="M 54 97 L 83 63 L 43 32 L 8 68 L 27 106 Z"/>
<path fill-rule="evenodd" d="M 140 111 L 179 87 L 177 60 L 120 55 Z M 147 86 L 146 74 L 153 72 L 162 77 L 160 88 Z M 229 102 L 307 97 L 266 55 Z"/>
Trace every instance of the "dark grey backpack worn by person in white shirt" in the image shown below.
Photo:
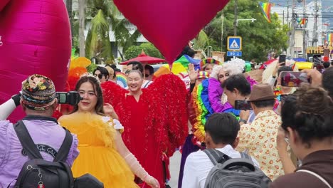
<path fill-rule="evenodd" d="M 215 165 L 206 178 L 205 188 L 266 188 L 271 182 L 243 152 L 240 152 L 241 158 L 231 158 L 214 149 L 203 152 Z"/>

